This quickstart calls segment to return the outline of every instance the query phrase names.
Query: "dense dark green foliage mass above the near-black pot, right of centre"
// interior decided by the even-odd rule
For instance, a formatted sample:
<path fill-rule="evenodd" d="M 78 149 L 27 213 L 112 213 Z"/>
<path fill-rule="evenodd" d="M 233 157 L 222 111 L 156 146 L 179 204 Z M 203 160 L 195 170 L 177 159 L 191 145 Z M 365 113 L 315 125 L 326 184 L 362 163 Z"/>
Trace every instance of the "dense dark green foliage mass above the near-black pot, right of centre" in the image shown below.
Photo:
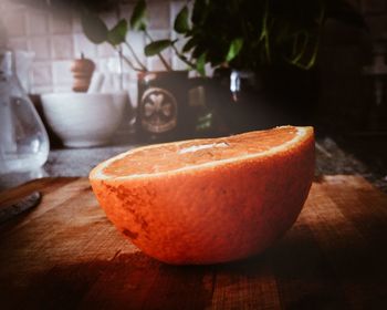
<path fill-rule="evenodd" d="M 206 53 L 212 66 L 255 70 L 290 63 L 310 69 L 327 18 L 364 27 L 344 0 L 196 0 L 182 52 L 192 50 L 196 60 Z"/>

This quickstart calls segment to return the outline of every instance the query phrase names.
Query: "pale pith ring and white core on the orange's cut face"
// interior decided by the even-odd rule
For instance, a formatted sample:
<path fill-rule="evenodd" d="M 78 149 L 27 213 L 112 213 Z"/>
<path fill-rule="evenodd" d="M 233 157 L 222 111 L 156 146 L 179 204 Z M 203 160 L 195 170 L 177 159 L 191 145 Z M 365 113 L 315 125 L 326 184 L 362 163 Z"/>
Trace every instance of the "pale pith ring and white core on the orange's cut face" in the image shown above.
<path fill-rule="evenodd" d="M 287 126 L 281 126 L 281 127 L 287 127 Z M 279 128 L 281 128 L 279 127 Z M 306 132 L 308 127 L 295 127 L 297 130 L 296 135 L 281 144 L 278 146 L 274 146 L 268 151 L 263 151 L 263 152 L 259 152 L 259 153 L 254 153 L 254 154 L 248 154 L 248 155 L 242 155 L 242 156 L 238 156 L 238 157 L 230 157 L 230 158 L 224 158 L 224 159 L 219 159 L 219 161 L 213 161 L 213 162 L 207 162 L 207 163 L 202 163 L 202 164 L 197 164 L 197 165 L 190 165 L 190 166 L 185 166 L 181 168 L 176 168 L 176 169 L 170 169 L 170 170 L 166 170 L 166 172 L 159 172 L 159 173 L 142 173 L 142 174 L 132 174 L 132 175 L 127 175 L 127 176 L 113 176 L 113 175 L 105 175 L 103 173 L 103 170 L 109 166 L 113 162 L 118 161 L 121 158 L 126 157 L 129 154 L 134 154 L 138 151 L 144 151 L 144 149 L 149 149 L 149 148 L 157 148 L 159 147 L 159 145 L 149 145 L 149 146 L 143 146 L 143 147 L 138 147 L 138 148 L 134 148 L 130 149 L 128 152 L 122 153 L 115 157 L 112 157 L 103 163 L 101 163 L 97 167 L 95 167 L 92 172 L 91 172 L 91 178 L 93 179 L 133 179 L 133 178 L 142 178 L 142 177 L 157 177 L 157 176 L 161 176 L 161 175 L 168 175 L 170 173 L 176 173 L 176 172 L 185 172 L 185 170 L 191 170 L 191 169 L 198 169 L 198 168 L 208 168 L 208 167 L 215 167 L 218 165 L 223 165 L 227 163 L 234 163 L 234 162 L 239 162 L 239 161 L 244 161 L 244 159 L 250 159 L 250 158 L 257 158 L 257 157 L 262 157 L 262 156 L 268 156 L 268 155 L 272 155 L 272 154 L 276 154 L 280 153 L 281 151 L 287 151 L 291 148 L 292 145 L 297 145 L 297 143 L 300 141 L 302 141 L 305 136 L 306 136 Z M 198 141 L 199 142 L 199 141 Z M 187 141 L 181 141 L 178 143 L 175 143 L 177 146 L 187 143 Z M 219 146 L 221 144 L 221 146 Z M 218 146 L 217 146 L 218 145 Z M 203 148 L 210 148 L 211 146 L 216 146 L 216 147 L 227 147 L 227 143 L 212 143 L 212 144 L 199 144 L 199 145 L 191 145 L 187 148 L 181 148 L 179 149 L 178 154 L 184 154 L 184 153 L 188 153 L 188 152 L 196 152 L 199 149 L 203 149 Z M 185 151 L 186 149 L 186 151 Z"/>

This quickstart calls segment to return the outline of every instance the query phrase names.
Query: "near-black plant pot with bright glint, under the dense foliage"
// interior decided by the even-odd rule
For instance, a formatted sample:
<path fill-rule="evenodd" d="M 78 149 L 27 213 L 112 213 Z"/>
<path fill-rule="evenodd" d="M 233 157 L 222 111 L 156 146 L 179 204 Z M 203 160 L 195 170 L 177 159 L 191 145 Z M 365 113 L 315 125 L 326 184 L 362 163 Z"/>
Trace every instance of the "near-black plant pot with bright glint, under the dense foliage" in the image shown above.
<path fill-rule="evenodd" d="M 212 100 L 230 134 L 286 124 L 310 124 L 317 83 L 314 72 L 289 68 L 261 72 L 221 69 L 215 72 Z"/>

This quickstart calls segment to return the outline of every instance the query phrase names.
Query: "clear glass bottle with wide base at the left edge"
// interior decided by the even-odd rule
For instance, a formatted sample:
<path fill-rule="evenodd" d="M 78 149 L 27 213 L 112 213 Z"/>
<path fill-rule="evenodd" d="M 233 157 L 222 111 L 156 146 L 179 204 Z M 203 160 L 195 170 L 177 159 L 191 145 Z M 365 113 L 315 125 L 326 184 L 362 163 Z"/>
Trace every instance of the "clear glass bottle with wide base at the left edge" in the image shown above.
<path fill-rule="evenodd" d="M 13 54 L 0 49 L 0 174 L 36 169 L 49 149 L 43 123 L 14 73 Z"/>

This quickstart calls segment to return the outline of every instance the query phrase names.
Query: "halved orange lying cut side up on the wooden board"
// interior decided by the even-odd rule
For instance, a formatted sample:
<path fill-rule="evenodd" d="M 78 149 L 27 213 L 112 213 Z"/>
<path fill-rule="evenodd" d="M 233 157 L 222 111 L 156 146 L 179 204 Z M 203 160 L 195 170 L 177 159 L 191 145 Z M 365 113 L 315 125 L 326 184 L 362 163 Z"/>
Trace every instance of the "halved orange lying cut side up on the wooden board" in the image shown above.
<path fill-rule="evenodd" d="M 314 175 L 312 127 L 157 144 L 90 174 L 107 217 L 145 254 L 215 264 L 261 252 L 297 218 Z"/>

